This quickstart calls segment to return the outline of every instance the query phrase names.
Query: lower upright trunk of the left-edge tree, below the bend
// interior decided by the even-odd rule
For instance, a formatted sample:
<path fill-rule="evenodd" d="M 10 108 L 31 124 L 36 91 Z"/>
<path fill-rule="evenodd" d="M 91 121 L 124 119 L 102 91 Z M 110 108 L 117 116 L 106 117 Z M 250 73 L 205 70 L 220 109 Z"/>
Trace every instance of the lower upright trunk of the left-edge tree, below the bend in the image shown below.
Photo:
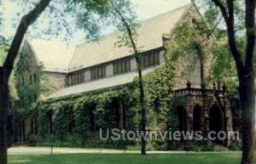
<path fill-rule="evenodd" d="M 9 86 L 0 84 L 0 164 L 7 164 L 7 116 L 9 105 Z"/>

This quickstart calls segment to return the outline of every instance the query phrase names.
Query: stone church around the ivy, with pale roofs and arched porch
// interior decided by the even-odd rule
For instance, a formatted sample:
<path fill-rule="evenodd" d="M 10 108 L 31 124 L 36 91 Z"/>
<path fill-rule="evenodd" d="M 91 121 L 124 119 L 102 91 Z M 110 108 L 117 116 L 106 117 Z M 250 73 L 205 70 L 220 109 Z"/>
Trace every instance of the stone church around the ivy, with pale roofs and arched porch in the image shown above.
<path fill-rule="evenodd" d="M 190 3 L 141 23 L 137 31 L 137 46 L 141 50 L 143 74 L 153 71 L 165 62 L 168 46 L 172 43 L 172 31 L 183 21 L 193 19 L 202 18 L 195 4 Z M 17 76 L 18 81 L 24 83 L 27 79 L 28 83 L 36 85 L 38 76 L 51 76 L 58 89 L 55 92 L 42 92 L 46 99 L 127 85 L 137 76 L 137 66 L 128 48 L 115 46 L 120 35 L 120 32 L 114 32 L 97 42 L 85 42 L 78 46 L 26 38 L 23 54 L 32 60 L 28 62 L 29 66 L 40 68 L 40 71 L 29 69 L 26 74 Z M 208 61 L 205 74 L 211 65 L 210 55 Z M 31 86 L 19 88 L 19 93 L 22 93 Z M 26 105 L 35 102 L 38 97 L 38 94 L 32 94 Z M 189 77 L 177 75 L 175 97 L 187 99 L 186 104 L 177 106 L 175 112 L 177 130 L 231 130 L 231 114 L 229 102 L 225 98 L 225 87 L 219 84 L 212 88 L 201 86 L 199 68 L 190 72 Z M 33 123 L 36 122 L 35 119 L 20 119 L 20 142 L 26 141 L 26 127 L 36 131 Z M 172 145 L 179 147 L 181 143 L 173 142 Z M 218 141 L 218 144 L 227 146 L 229 139 Z"/>

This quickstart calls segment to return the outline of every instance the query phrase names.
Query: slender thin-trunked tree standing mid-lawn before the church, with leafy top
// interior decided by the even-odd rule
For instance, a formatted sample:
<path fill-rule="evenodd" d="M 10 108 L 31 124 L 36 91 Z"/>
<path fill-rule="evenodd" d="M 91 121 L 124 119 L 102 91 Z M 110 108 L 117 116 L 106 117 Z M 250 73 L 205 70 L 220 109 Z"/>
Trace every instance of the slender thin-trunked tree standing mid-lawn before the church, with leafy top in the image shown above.
<path fill-rule="evenodd" d="M 129 0 L 107 0 L 107 1 L 89 1 L 83 2 L 84 8 L 87 6 L 94 5 L 98 8 L 98 14 L 101 15 L 98 20 L 105 20 L 105 23 L 116 26 L 119 31 L 123 32 L 123 36 L 120 37 L 120 41 L 117 42 L 118 46 L 125 46 L 131 48 L 131 52 L 136 59 L 137 72 L 138 72 L 138 83 L 140 90 L 140 104 L 141 104 L 141 133 L 146 133 L 146 107 L 145 107 L 145 93 L 143 88 L 143 66 L 140 62 L 139 50 L 137 48 L 137 21 L 136 16 L 133 13 L 131 2 Z M 87 24 L 84 23 L 84 17 L 88 14 L 79 14 L 79 25 L 85 27 Z M 98 20 L 96 22 L 98 22 Z M 96 26 L 95 31 L 99 31 L 100 26 Z M 146 155 L 146 139 L 142 138 L 142 155 Z"/>

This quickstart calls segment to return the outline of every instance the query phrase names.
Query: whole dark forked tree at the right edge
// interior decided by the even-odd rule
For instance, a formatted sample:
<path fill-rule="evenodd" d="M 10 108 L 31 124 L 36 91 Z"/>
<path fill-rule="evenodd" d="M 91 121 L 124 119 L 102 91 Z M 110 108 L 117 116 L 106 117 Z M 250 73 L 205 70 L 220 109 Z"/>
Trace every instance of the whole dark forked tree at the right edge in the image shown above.
<path fill-rule="evenodd" d="M 233 0 L 211 0 L 218 8 L 224 18 L 226 27 L 227 42 L 230 47 L 230 53 L 236 63 L 236 73 L 239 81 L 239 95 L 241 103 L 242 119 L 242 157 L 241 164 L 253 163 L 253 144 L 255 139 L 255 93 L 254 93 L 254 65 L 253 58 L 255 54 L 255 0 L 244 0 L 236 2 Z M 241 24 L 236 24 L 237 8 L 242 8 L 245 15 L 242 15 L 241 26 L 245 33 L 237 34 Z M 217 13 L 213 8 L 212 13 Z M 241 12 L 243 13 L 243 12 Z M 237 40 L 240 36 L 246 38 L 245 46 L 239 47 Z"/>

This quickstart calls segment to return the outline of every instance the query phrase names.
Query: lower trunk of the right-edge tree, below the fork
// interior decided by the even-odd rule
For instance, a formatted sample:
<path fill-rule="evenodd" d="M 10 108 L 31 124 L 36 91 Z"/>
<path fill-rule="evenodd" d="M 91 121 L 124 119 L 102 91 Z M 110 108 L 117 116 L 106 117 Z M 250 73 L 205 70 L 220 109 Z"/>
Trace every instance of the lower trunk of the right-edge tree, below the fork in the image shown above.
<path fill-rule="evenodd" d="M 253 164 L 253 145 L 255 139 L 255 94 L 254 76 L 242 76 L 240 80 L 242 157 L 241 164 Z"/>

